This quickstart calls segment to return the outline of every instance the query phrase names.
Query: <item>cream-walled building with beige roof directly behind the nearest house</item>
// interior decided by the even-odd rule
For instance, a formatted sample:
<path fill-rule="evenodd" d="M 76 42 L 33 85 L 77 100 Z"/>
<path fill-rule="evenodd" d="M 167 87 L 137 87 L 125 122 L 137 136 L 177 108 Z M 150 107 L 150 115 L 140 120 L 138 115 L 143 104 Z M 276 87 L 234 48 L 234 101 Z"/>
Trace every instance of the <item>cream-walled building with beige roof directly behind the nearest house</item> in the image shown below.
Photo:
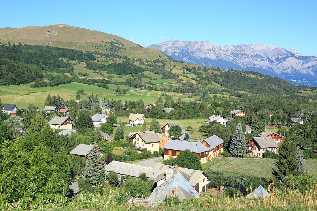
<path fill-rule="evenodd" d="M 146 174 L 149 180 L 154 181 L 154 186 L 159 187 L 165 181 L 168 181 L 175 172 L 180 172 L 187 182 L 198 192 L 204 193 L 209 189 L 207 175 L 200 170 L 186 169 L 177 166 L 168 166 L 161 163 L 156 164 L 152 170 Z"/>

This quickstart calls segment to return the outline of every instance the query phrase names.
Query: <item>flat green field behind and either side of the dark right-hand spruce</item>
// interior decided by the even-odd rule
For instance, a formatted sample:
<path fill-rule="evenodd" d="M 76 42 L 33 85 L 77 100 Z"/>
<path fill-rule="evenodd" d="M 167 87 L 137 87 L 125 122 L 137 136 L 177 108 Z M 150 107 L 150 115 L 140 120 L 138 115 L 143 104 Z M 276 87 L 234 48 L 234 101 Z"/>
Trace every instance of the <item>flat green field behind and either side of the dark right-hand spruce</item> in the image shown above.
<path fill-rule="evenodd" d="M 275 159 L 267 158 L 224 158 L 216 160 L 216 163 L 204 164 L 204 171 L 215 169 L 223 171 L 227 175 L 248 174 L 265 178 L 273 178 L 271 169 L 274 167 Z M 214 161 L 213 160 L 213 161 Z M 314 159 L 305 160 L 308 173 L 312 174 L 317 179 L 317 162 Z"/>

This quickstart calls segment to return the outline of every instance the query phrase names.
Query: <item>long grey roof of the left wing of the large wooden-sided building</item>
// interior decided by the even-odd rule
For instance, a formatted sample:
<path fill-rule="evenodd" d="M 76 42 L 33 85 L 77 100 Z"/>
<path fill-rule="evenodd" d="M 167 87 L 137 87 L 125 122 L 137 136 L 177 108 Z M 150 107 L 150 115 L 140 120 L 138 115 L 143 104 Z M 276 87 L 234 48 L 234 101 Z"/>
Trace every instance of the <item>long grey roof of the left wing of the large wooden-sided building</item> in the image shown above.
<path fill-rule="evenodd" d="M 179 150 L 179 151 L 190 150 L 191 152 L 196 152 L 196 153 L 209 151 L 209 149 L 205 147 L 204 144 L 202 144 L 199 141 L 189 142 L 189 141 L 180 141 L 180 140 L 174 140 L 174 139 L 169 139 L 164 145 L 163 149 Z"/>

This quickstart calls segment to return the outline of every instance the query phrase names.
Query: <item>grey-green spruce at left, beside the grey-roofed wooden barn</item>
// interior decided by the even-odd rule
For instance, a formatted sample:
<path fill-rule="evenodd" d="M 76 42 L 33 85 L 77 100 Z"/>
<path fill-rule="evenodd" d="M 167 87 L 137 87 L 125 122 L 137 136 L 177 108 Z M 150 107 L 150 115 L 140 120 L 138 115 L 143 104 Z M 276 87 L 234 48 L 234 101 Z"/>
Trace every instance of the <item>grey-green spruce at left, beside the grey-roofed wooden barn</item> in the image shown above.
<path fill-rule="evenodd" d="M 103 176 L 104 165 L 101 162 L 101 153 L 98 152 L 97 144 L 94 143 L 89 151 L 83 175 L 89 180 L 90 184 L 95 184 L 100 181 Z"/>

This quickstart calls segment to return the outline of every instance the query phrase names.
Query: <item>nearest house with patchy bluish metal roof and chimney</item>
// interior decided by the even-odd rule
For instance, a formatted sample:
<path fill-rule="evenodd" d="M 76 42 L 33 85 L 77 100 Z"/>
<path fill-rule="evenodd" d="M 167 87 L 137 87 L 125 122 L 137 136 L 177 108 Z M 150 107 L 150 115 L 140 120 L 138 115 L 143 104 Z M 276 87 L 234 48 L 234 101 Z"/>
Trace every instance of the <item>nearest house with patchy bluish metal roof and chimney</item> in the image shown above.
<path fill-rule="evenodd" d="M 170 196 L 177 196 L 179 200 L 199 197 L 199 193 L 186 180 L 185 176 L 188 175 L 183 175 L 184 172 L 177 170 L 177 167 L 167 167 L 166 172 L 171 172 L 171 174 L 166 174 L 165 181 L 154 188 L 149 197 L 130 199 L 128 203 L 133 203 L 134 205 L 157 206 L 163 203 L 166 197 Z"/>

